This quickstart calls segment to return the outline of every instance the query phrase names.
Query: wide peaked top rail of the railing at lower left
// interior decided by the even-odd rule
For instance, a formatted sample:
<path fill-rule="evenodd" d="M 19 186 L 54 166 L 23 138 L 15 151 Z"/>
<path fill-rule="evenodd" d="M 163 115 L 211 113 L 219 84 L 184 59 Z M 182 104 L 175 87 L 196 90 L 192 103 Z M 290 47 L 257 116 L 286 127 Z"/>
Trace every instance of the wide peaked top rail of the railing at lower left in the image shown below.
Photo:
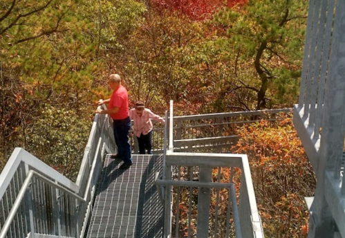
<path fill-rule="evenodd" d="M 26 150 L 17 147 L 15 148 L 14 152 L 10 156 L 10 159 L 8 160 L 8 163 L 6 163 L 5 167 L 3 168 L 3 171 L 0 174 L 0 181 L 2 181 L 0 185 L 0 198 L 2 198 L 3 194 L 5 194 L 6 189 L 10 184 L 10 181 L 12 180 L 12 177 L 14 176 L 15 172 L 17 171 L 17 167 L 19 166 L 21 161 L 23 161 L 31 167 L 34 167 L 35 170 L 41 172 L 47 177 L 59 181 L 60 184 L 68 187 L 69 189 L 77 190 L 78 186 L 71 180 L 66 178 L 66 176 L 60 174 L 52 167 L 46 165 L 46 163 L 40 161 L 35 156 L 32 156 L 32 154 L 26 152 Z"/>

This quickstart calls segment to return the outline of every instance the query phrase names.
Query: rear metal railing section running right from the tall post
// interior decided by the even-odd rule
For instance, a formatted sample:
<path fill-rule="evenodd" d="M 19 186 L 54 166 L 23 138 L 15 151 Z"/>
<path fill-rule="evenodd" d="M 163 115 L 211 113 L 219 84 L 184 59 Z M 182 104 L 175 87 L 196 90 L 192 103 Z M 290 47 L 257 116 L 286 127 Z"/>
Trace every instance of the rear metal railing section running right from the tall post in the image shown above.
<path fill-rule="evenodd" d="M 265 119 L 276 122 L 279 113 L 292 109 L 213 113 L 193 116 L 175 116 L 172 137 L 175 152 L 232 152 L 239 140 L 236 130 L 252 122 Z"/>

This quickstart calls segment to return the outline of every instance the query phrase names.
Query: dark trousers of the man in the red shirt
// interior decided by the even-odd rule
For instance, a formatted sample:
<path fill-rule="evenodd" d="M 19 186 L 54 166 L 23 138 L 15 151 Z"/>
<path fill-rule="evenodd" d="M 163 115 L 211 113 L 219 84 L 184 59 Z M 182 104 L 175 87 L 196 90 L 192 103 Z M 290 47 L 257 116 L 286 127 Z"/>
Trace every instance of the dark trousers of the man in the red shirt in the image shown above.
<path fill-rule="evenodd" d="M 129 143 L 129 129 L 131 129 L 131 118 L 113 120 L 114 138 L 118 146 L 118 155 L 126 164 L 132 163 L 132 149 Z"/>

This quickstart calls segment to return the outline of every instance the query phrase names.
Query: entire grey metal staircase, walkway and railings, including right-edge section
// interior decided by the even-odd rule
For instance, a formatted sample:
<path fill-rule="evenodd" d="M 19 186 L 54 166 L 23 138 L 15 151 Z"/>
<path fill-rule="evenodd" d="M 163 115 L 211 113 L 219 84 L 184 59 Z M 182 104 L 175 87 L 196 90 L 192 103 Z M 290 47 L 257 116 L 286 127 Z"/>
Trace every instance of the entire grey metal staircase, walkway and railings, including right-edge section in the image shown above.
<path fill-rule="evenodd" d="M 345 238 L 345 1 L 310 0 L 309 6 L 294 107 L 295 127 L 317 175 L 308 237 Z M 162 156 L 144 156 L 124 174 L 109 158 L 104 163 L 104 155 L 116 150 L 111 119 L 104 114 L 95 116 L 75 183 L 15 149 L 0 174 L 0 238 L 263 237 L 248 160 L 230 148 L 237 139 L 234 128 L 258 118 L 274 120 L 279 111 L 182 117 L 172 112 L 171 103 L 169 130 L 157 126 L 153 135 Z M 153 170 L 147 169 L 151 160 Z M 240 187 L 232 181 L 234 170 L 241 170 Z M 223 172 L 230 175 L 226 181 Z M 132 203 L 121 200 L 127 197 L 122 186 L 132 192 Z M 219 212 L 221 190 L 228 194 L 226 216 Z"/>

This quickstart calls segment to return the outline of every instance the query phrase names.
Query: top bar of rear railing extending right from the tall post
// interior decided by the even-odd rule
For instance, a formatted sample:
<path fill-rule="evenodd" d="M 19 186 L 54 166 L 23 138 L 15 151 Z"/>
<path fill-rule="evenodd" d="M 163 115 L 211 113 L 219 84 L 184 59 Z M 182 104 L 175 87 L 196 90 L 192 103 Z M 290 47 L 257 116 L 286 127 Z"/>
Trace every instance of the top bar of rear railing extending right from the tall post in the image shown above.
<path fill-rule="evenodd" d="M 209 114 L 189 115 L 189 116 L 174 116 L 174 121 L 201 120 L 201 119 L 210 119 L 210 118 L 227 118 L 227 117 L 236 117 L 236 116 L 252 116 L 252 115 L 257 115 L 257 114 L 265 114 L 265 113 L 290 112 L 291 110 L 292 108 L 258 110 L 258 111 L 235 111 L 235 112 L 227 112 L 227 113 L 209 113 Z"/>

